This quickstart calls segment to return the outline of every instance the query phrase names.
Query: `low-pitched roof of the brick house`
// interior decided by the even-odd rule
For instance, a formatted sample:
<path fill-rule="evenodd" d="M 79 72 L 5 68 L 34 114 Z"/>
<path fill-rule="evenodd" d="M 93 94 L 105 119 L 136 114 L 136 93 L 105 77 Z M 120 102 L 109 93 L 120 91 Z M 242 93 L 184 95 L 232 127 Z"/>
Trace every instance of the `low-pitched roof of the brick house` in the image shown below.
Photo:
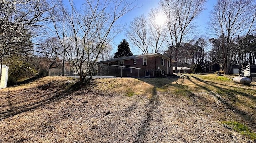
<path fill-rule="evenodd" d="M 128 57 L 114 58 L 114 59 L 110 59 L 110 60 L 106 60 L 106 61 L 100 61 L 100 62 L 97 62 L 97 63 L 107 63 L 107 62 L 113 62 L 113 61 L 124 61 L 124 60 L 138 59 L 138 58 L 144 58 L 144 57 L 154 57 L 154 56 L 158 56 L 158 57 L 162 57 L 164 59 L 170 60 L 170 58 L 167 57 L 166 55 L 162 55 L 160 53 L 152 53 L 152 54 L 141 54 L 141 55 L 133 55 L 133 56 L 128 56 Z M 171 61 L 175 62 L 173 59 L 171 59 Z"/>

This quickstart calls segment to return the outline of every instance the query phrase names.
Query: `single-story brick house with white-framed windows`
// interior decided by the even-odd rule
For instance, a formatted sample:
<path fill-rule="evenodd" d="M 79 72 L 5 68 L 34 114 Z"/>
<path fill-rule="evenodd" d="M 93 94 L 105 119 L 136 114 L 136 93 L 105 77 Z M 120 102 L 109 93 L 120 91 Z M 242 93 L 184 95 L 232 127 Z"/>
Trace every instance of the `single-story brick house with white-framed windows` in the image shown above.
<path fill-rule="evenodd" d="M 97 62 L 98 76 L 130 76 L 130 77 L 158 77 L 160 75 L 172 74 L 169 57 L 160 53 L 133 55 Z M 114 65 L 114 66 L 104 66 Z M 125 67 L 118 67 L 125 66 Z M 128 67 L 134 67 L 128 68 Z M 140 68 L 140 69 L 136 69 Z M 122 69 L 122 71 L 120 70 Z M 171 70 L 170 70 L 171 69 Z M 120 73 L 122 72 L 122 73 Z"/>

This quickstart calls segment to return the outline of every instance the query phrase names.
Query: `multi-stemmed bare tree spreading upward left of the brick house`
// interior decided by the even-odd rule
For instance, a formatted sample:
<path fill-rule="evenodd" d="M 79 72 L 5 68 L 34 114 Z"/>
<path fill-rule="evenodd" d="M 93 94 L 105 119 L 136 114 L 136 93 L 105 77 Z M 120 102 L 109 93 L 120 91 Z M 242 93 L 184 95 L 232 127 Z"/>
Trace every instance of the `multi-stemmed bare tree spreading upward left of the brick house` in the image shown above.
<path fill-rule="evenodd" d="M 118 24 L 118 19 L 134 7 L 124 0 L 85 0 L 80 9 L 69 0 L 69 7 L 62 6 L 66 20 L 54 24 L 55 33 L 73 61 L 80 80 L 84 80 L 86 75 L 92 76 L 100 53 L 123 30 L 124 26 Z"/>

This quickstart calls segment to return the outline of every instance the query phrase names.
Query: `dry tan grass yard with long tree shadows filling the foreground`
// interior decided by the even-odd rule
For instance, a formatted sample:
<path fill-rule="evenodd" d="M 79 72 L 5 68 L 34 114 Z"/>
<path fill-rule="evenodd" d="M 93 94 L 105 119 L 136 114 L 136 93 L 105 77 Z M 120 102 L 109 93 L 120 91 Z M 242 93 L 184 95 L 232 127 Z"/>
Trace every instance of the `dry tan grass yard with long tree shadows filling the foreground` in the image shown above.
<path fill-rule="evenodd" d="M 0 90 L 0 142 L 253 142 L 220 121 L 255 131 L 254 85 L 193 74 L 76 82 L 46 77 Z"/>

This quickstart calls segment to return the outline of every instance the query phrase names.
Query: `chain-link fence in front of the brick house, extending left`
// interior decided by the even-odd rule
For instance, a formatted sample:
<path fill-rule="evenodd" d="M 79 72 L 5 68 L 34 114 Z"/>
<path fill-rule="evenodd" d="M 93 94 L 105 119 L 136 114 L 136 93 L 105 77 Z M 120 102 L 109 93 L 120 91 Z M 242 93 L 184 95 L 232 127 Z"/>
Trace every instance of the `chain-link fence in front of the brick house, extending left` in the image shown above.
<path fill-rule="evenodd" d="M 92 69 L 87 69 L 88 73 L 91 73 L 92 76 L 101 76 L 101 77 L 159 77 L 161 76 L 161 71 L 155 70 L 145 70 L 136 67 L 126 67 L 121 65 L 104 65 L 98 64 Z M 49 76 L 62 76 L 63 68 L 54 67 L 49 70 Z M 75 67 L 64 67 L 64 76 L 74 76 L 79 77 L 78 72 Z M 90 74 L 86 76 L 90 77 Z"/>

